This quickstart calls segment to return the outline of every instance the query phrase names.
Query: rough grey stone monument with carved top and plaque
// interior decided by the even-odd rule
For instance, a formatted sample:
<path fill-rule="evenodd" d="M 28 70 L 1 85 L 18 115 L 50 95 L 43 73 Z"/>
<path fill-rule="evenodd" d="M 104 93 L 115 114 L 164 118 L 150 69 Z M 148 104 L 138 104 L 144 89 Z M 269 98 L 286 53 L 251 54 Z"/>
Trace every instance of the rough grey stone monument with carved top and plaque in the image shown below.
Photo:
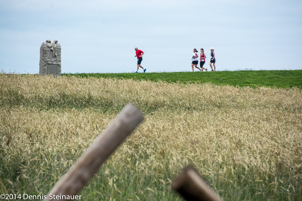
<path fill-rule="evenodd" d="M 46 40 L 40 47 L 40 75 L 61 76 L 61 45 Z"/>

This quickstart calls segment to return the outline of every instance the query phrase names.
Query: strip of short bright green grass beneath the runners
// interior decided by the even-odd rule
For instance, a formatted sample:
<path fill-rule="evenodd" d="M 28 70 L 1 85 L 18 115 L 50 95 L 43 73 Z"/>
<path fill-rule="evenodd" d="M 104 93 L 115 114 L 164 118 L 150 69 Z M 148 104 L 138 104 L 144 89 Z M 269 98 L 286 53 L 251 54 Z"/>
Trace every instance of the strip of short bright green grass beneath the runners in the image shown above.
<path fill-rule="evenodd" d="M 104 77 L 117 79 L 166 81 L 169 83 L 213 83 L 215 85 L 302 88 L 302 70 L 291 71 L 216 71 L 172 73 L 95 73 L 62 74 L 63 76 Z"/>

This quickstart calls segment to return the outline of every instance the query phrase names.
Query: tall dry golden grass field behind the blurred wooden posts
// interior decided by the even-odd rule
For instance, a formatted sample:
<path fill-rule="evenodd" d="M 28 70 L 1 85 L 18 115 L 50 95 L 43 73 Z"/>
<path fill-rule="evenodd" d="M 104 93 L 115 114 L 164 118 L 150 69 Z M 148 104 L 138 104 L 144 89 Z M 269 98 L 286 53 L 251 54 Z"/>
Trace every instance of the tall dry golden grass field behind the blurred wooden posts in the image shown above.
<path fill-rule="evenodd" d="M 145 120 L 81 200 L 182 200 L 191 164 L 223 200 L 302 200 L 302 92 L 0 75 L 0 194 L 49 192 L 126 103 Z"/>

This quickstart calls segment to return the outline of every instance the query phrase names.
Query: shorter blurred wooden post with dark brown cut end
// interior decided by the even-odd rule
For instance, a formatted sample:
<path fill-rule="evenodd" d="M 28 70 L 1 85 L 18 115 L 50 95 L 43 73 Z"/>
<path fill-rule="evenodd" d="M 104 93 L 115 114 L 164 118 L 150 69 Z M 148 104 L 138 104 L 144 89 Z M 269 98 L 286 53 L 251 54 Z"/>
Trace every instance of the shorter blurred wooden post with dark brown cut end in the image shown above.
<path fill-rule="evenodd" d="M 194 168 L 189 166 L 172 181 L 172 188 L 188 201 L 220 200 L 219 196 L 210 189 Z"/>

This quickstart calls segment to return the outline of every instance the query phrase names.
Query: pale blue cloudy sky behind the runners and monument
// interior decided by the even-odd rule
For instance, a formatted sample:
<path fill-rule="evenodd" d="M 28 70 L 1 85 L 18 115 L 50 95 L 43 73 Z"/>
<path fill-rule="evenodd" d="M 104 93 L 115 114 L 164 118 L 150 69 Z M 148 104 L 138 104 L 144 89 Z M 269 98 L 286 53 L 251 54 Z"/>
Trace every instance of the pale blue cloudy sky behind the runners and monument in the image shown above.
<path fill-rule="evenodd" d="M 302 69 L 301 0 L 0 0 L 0 71 L 39 73 L 40 46 L 61 45 L 62 73 Z M 200 53 L 200 52 L 198 52 Z M 198 64 L 199 65 L 199 64 Z M 140 69 L 142 72 L 142 69 Z"/>

